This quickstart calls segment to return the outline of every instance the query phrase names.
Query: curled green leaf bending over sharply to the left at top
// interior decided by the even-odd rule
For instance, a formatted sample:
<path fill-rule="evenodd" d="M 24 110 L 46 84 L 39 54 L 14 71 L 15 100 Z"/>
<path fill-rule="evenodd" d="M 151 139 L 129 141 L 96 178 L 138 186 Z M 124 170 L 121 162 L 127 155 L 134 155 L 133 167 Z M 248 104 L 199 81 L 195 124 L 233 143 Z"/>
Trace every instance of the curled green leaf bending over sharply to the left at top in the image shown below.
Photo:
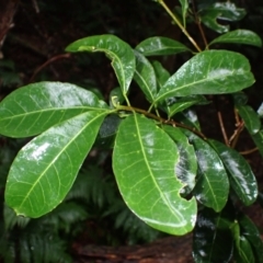
<path fill-rule="evenodd" d="M 96 35 L 81 38 L 67 46 L 66 52 L 103 52 L 112 60 L 118 83 L 126 95 L 135 71 L 132 47 L 114 35 Z"/>

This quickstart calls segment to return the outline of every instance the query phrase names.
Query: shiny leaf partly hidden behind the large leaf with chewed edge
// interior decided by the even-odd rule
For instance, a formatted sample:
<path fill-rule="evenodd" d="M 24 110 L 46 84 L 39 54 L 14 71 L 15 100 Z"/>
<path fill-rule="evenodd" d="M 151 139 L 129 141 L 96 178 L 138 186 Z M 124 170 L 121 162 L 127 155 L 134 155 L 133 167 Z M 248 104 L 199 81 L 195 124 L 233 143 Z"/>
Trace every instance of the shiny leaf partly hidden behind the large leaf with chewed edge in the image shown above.
<path fill-rule="evenodd" d="M 188 194 L 195 186 L 195 175 L 197 172 L 197 161 L 194 147 L 188 144 L 187 137 L 172 126 L 163 126 L 163 130 L 175 141 L 179 149 L 179 162 L 175 167 L 176 176 L 185 184 L 181 194 Z"/>

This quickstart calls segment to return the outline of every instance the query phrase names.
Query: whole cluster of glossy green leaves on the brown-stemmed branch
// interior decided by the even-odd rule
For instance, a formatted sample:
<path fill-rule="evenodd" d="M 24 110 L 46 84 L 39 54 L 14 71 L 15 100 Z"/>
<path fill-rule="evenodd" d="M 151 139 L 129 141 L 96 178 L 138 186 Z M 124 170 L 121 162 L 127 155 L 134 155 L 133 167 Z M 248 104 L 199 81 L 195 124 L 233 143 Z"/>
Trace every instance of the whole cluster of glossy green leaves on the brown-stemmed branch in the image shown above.
<path fill-rule="evenodd" d="M 241 91 L 255 81 L 249 60 L 240 53 L 214 49 L 224 43 L 261 47 L 262 41 L 252 31 L 230 31 L 229 25 L 219 23 L 245 15 L 229 1 L 203 5 L 197 12 L 182 0 L 180 18 L 163 0 L 157 2 L 194 49 L 162 36 L 147 38 L 135 48 L 110 34 L 84 37 L 66 52 L 104 53 L 111 59 L 119 87 L 112 91 L 108 102 L 75 84 L 46 81 L 25 85 L 0 103 L 0 134 L 36 136 L 12 163 L 5 202 L 24 217 L 50 213 L 70 198 L 68 192 L 92 147 L 108 139 L 118 190 L 138 218 L 171 235 L 194 230 L 196 262 L 216 262 L 218 256 L 220 262 L 232 258 L 262 262 L 256 227 L 245 216 L 231 213 L 237 201 L 250 206 L 259 195 L 254 173 L 235 147 L 245 128 L 263 152 L 262 108 L 255 112 L 240 99 Z M 186 30 L 188 18 L 198 24 L 204 50 Z M 208 43 L 203 25 L 222 35 Z M 192 57 L 172 73 L 151 59 L 182 53 Z M 133 82 L 144 93 L 148 108 L 132 105 Z M 224 134 L 225 144 L 203 134 L 193 107 L 210 103 L 207 95 L 219 94 L 233 98 L 238 127 L 231 138 Z M 81 191 L 82 186 L 76 187 Z M 111 193 L 104 194 L 111 201 Z M 98 196 L 85 198 L 102 207 L 105 199 L 95 199 Z M 125 213 L 118 216 L 116 227 L 127 218 Z M 71 221 L 70 216 L 66 218 Z M 124 226 L 128 229 L 132 224 Z M 224 243 L 224 239 L 229 242 Z"/>

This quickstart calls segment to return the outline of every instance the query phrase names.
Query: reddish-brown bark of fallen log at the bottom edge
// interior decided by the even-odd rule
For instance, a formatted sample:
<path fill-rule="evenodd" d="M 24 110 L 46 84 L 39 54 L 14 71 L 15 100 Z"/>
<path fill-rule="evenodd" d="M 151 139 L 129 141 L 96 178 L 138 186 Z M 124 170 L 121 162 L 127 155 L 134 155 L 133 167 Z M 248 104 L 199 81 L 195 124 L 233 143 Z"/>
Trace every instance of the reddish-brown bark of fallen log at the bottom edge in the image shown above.
<path fill-rule="evenodd" d="M 192 235 L 168 237 L 145 245 L 77 249 L 75 263 L 193 263 Z"/>

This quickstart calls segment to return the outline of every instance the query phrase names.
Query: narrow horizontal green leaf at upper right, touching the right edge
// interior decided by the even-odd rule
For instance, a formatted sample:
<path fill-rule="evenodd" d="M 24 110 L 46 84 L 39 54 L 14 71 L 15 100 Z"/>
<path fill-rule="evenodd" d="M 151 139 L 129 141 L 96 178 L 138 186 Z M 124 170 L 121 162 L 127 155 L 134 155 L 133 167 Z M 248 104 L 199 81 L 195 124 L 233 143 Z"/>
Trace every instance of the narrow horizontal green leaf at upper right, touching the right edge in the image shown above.
<path fill-rule="evenodd" d="M 249 30 L 236 30 L 228 32 L 217 38 L 215 38 L 209 45 L 215 43 L 236 43 L 245 44 L 252 46 L 262 46 L 261 37 L 252 31 Z"/>

